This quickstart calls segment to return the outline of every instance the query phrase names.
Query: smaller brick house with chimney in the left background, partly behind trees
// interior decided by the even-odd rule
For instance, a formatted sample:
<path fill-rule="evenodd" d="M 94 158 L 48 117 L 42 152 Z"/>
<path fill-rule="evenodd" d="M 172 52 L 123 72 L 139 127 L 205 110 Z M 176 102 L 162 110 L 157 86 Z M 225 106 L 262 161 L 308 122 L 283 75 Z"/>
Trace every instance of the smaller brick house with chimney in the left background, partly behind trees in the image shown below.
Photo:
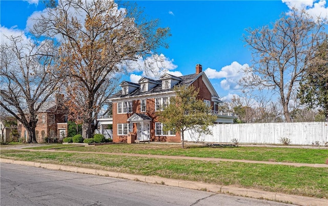
<path fill-rule="evenodd" d="M 63 106 L 64 95 L 56 94 L 55 102 L 45 102 L 37 112 L 35 136 L 37 142 L 60 141 L 67 137 L 68 112 Z M 28 141 L 28 131 L 20 121 L 17 122 L 20 138 Z M 46 137 L 48 139 L 46 139 Z"/>

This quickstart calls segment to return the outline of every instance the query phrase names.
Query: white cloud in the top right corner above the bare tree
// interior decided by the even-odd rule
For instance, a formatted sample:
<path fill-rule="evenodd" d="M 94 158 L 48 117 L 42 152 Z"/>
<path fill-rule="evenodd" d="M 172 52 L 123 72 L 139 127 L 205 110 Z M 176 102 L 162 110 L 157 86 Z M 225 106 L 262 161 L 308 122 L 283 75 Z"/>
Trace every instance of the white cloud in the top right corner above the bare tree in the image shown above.
<path fill-rule="evenodd" d="M 326 0 L 282 0 L 282 3 L 285 3 L 290 9 L 293 7 L 299 10 L 305 9 L 314 19 L 319 16 L 322 19 L 328 17 Z"/>

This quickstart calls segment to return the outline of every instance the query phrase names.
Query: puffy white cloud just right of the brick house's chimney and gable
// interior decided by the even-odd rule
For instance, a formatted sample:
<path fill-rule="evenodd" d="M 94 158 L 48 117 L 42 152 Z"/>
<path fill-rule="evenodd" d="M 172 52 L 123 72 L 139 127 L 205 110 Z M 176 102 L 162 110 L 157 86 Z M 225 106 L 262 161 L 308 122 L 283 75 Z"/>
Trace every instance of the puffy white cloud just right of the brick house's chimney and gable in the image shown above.
<path fill-rule="evenodd" d="M 240 65 L 237 61 L 231 63 L 231 65 L 224 66 L 220 71 L 207 68 L 204 72 L 210 79 L 221 79 L 220 85 L 224 90 L 238 90 L 239 79 L 243 76 L 243 69 L 249 67 L 248 64 Z"/>

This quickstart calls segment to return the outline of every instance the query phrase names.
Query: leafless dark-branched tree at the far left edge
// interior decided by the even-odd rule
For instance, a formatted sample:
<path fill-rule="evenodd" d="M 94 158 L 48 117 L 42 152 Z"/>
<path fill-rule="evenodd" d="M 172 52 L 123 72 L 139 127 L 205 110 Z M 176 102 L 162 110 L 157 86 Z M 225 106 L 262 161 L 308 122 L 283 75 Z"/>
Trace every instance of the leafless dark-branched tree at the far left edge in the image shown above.
<path fill-rule="evenodd" d="M 56 50 L 53 42 L 8 37 L 0 47 L 0 105 L 27 129 L 36 142 L 37 112 L 56 90 L 53 75 Z"/>

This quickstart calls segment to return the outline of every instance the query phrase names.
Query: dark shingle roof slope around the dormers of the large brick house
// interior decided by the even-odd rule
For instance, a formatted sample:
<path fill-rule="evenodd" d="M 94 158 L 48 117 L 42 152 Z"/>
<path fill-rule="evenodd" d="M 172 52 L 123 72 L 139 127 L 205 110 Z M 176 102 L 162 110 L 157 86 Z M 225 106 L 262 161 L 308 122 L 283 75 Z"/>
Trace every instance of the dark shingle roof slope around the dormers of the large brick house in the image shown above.
<path fill-rule="evenodd" d="M 199 75 L 200 74 L 189 74 L 189 75 L 185 75 L 185 76 L 180 76 L 178 78 L 180 78 L 181 81 L 177 84 L 177 86 L 182 86 L 182 85 L 188 85 L 189 86 L 191 83 L 193 83 L 193 81 Z M 150 79 L 150 80 L 153 80 L 153 79 Z M 130 92 L 129 94 L 123 95 L 122 92 L 119 91 L 116 94 L 110 96 L 109 99 L 173 91 L 173 88 L 172 89 L 167 89 L 167 90 L 162 90 L 161 80 L 153 80 L 153 81 L 157 81 L 159 84 L 156 85 L 154 88 L 150 89 L 147 92 L 141 92 L 141 88 L 138 88 L 138 89 L 134 90 L 133 92 Z"/>

